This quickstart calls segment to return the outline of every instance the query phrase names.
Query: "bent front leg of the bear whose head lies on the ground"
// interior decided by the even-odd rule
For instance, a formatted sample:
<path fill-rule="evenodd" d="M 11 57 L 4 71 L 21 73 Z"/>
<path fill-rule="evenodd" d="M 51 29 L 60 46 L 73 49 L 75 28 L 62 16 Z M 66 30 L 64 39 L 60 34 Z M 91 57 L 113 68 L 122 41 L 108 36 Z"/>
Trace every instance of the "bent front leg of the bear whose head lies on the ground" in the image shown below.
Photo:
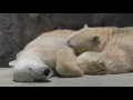
<path fill-rule="evenodd" d="M 64 48 L 55 53 L 57 72 L 61 77 L 82 77 L 83 72 L 79 69 L 76 57 L 70 48 Z"/>

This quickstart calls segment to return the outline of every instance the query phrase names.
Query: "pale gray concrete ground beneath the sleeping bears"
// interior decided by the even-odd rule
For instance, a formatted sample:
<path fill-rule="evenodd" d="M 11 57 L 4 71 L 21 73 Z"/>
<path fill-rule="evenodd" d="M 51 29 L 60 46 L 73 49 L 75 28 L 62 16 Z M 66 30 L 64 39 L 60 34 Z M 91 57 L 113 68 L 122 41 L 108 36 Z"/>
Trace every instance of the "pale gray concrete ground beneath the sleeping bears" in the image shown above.
<path fill-rule="evenodd" d="M 0 68 L 0 87 L 133 87 L 133 73 L 49 79 L 49 82 L 14 82 L 12 68 Z"/>

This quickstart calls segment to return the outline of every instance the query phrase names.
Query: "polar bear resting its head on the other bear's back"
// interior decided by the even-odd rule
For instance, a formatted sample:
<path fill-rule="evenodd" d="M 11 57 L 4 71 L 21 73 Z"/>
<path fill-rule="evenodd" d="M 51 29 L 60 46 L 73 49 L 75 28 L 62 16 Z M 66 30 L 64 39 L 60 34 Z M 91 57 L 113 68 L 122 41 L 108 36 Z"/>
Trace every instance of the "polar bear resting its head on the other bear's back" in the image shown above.
<path fill-rule="evenodd" d="M 78 62 L 84 73 L 116 74 L 133 71 L 132 27 L 89 28 L 85 26 L 68 39 L 68 46 L 78 54 L 82 53 L 78 57 Z M 98 63 L 101 66 L 94 66 Z"/>

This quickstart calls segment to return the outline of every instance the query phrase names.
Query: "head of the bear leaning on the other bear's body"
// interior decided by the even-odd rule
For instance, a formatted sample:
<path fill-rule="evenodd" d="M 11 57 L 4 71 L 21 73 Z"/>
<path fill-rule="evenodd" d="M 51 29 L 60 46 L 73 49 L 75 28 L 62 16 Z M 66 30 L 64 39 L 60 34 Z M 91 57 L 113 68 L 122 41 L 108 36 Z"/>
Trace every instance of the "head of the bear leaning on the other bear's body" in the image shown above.
<path fill-rule="evenodd" d="M 100 37 L 94 28 L 89 28 L 86 24 L 81 30 L 70 36 L 66 40 L 69 47 L 79 56 L 85 51 L 95 51 L 100 43 Z"/>

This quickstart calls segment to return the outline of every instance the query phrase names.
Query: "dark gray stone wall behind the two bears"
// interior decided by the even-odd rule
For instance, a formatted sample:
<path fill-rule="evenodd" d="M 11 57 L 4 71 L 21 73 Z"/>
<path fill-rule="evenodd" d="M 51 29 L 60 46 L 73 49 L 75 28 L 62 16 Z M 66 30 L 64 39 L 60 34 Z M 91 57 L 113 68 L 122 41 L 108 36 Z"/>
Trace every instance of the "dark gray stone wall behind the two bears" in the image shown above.
<path fill-rule="evenodd" d="M 0 13 L 0 67 L 45 31 L 58 28 L 132 27 L 133 13 Z"/>

